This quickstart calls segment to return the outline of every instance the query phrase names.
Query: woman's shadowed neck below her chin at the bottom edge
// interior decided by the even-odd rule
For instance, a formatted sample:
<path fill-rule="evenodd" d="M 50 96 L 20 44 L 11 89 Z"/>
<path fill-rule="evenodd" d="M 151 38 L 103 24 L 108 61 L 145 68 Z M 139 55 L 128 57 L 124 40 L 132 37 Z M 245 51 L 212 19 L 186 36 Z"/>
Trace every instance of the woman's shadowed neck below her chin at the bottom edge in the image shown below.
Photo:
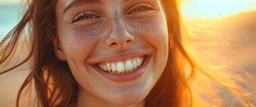
<path fill-rule="evenodd" d="M 82 107 L 82 106 L 102 106 L 102 107 L 144 107 L 145 100 L 139 103 L 133 103 L 128 105 L 118 105 L 110 102 L 106 102 L 97 98 L 96 96 L 87 93 L 83 89 L 79 89 L 77 102 L 73 105 L 73 107 Z"/>

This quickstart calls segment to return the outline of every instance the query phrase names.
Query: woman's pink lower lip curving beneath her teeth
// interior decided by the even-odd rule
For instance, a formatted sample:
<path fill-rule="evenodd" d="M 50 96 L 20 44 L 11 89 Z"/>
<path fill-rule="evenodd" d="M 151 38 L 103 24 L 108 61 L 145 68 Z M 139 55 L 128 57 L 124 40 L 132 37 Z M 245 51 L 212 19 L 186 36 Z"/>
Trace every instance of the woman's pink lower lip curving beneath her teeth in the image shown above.
<path fill-rule="evenodd" d="M 135 79 L 138 79 L 139 77 L 141 77 L 142 74 L 144 74 L 144 72 L 146 71 L 146 66 L 149 62 L 150 56 L 146 56 L 144 57 L 145 61 L 142 64 L 142 66 L 140 66 L 137 70 L 130 72 L 130 73 L 124 73 L 124 74 L 115 74 L 115 73 L 107 73 L 104 72 L 102 70 L 100 70 L 100 68 L 91 65 L 93 68 L 95 68 L 95 70 L 101 74 L 103 77 L 107 78 L 108 80 L 111 81 L 115 81 L 115 82 L 125 82 L 125 81 L 132 81 Z"/>

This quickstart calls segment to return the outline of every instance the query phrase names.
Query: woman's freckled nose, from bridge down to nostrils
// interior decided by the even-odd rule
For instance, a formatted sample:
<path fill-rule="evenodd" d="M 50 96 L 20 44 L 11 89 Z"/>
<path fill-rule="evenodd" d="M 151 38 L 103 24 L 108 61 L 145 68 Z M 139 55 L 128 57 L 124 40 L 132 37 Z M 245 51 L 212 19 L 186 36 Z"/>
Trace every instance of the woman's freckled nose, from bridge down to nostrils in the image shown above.
<path fill-rule="evenodd" d="M 117 11 L 112 14 L 110 22 L 110 34 L 106 39 L 106 44 L 109 47 L 122 48 L 134 41 L 134 37 L 129 34 L 126 29 L 125 22 Z"/>

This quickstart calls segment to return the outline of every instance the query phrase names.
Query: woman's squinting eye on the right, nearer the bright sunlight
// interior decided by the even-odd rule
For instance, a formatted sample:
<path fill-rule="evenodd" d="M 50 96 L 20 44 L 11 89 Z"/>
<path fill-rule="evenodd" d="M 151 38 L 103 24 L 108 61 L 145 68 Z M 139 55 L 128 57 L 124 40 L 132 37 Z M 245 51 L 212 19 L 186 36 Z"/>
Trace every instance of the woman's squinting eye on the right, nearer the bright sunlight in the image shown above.
<path fill-rule="evenodd" d="M 131 13 L 137 12 L 137 11 L 155 10 L 154 6 L 152 6 L 152 5 L 148 4 L 148 3 L 144 3 L 144 2 L 134 4 L 131 8 L 133 10 L 130 11 L 129 13 L 127 13 L 127 14 L 131 14 Z"/>

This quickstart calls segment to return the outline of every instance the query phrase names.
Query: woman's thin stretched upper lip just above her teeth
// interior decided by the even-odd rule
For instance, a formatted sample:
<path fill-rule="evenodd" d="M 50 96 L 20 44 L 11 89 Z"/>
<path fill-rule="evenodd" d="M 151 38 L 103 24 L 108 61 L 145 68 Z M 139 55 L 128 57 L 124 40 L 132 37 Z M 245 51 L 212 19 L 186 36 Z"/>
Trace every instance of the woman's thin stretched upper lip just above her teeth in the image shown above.
<path fill-rule="evenodd" d="M 95 57 L 91 60 L 91 63 L 89 64 L 95 65 L 98 63 L 105 63 L 105 62 L 117 62 L 117 61 L 123 61 L 123 60 L 131 59 L 139 56 L 149 56 L 150 54 L 152 54 L 152 50 L 133 50 L 133 51 L 127 51 L 123 53 L 114 53 L 107 56 Z"/>

